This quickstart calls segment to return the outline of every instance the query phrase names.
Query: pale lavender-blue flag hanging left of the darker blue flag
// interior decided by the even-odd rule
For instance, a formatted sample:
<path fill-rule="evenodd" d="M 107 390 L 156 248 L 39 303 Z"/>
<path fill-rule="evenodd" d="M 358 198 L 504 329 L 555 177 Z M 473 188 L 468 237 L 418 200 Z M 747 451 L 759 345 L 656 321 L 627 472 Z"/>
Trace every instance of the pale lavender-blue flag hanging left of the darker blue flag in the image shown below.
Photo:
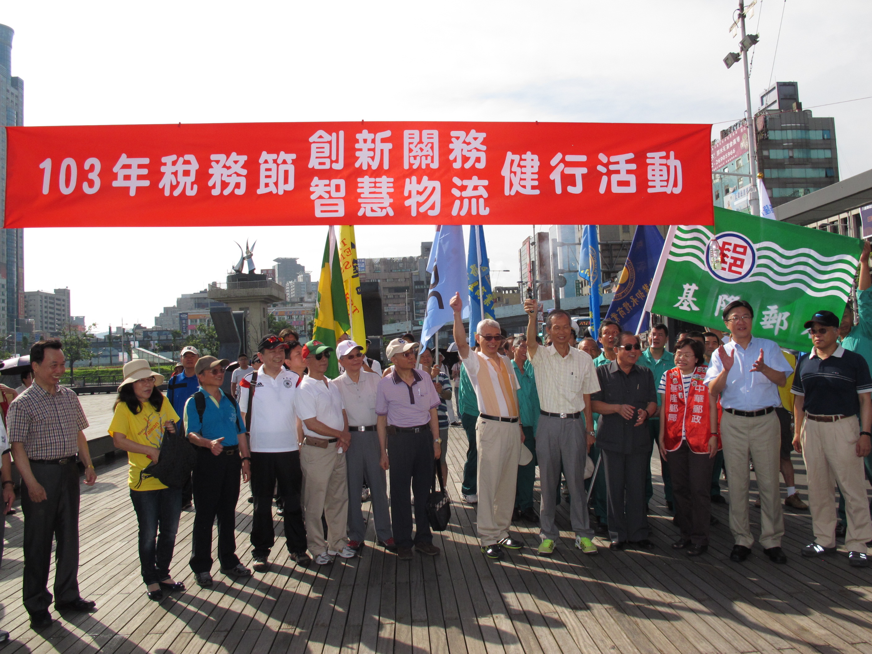
<path fill-rule="evenodd" d="M 453 321 L 454 312 L 448 301 L 455 293 L 460 293 L 463 306 L 467 307 L 467 280 L 463 265 L 463 228 L 460 225 L 440 225 L 433 238 L 433 260 L 430 271 L 430 294 L 427 296 L 424 325 L 421 328 L 421 343 L 430 340 L 439 328 Z M 433 254 L 434 253 L 434 254 Z"/>

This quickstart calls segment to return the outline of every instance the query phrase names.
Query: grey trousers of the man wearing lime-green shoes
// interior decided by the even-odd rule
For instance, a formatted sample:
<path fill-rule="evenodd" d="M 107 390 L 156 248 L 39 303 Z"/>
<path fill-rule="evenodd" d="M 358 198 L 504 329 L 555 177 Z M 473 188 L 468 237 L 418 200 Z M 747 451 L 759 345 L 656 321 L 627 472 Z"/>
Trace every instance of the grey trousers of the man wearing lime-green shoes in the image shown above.
<path fill-rule="evenodd" d="M 587 502 L 584 499 L 584 466 L 588 457 L 584 416 L 581 418 L 552 418 L 539 416 L 536 427 L 536 460 L 539 463 L 539 487 L 542 489 L 542 506 L 539 509 L 539 525 L 542 538 L 555 541 L 560 535 L 554 523 L 557 492 L 560 484 L 560 467 L 569 486 L 569 521 L 576 536 L 593 538 L 590 528 Z"/>

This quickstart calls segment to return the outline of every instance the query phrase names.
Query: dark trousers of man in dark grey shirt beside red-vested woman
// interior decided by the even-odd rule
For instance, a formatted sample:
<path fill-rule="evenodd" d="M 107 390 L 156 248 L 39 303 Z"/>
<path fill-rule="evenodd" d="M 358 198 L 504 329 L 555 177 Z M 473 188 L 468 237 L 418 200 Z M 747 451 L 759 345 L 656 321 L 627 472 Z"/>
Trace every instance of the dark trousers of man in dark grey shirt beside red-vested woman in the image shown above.
<path fill-rule="evenodd" d="M 609 535 L 612 541 L 643 541 L 651 535 L 645 512 L 645 469 L 651 450 L 624 454 L 603 449 L 605 483 L 609 487 Z"/>

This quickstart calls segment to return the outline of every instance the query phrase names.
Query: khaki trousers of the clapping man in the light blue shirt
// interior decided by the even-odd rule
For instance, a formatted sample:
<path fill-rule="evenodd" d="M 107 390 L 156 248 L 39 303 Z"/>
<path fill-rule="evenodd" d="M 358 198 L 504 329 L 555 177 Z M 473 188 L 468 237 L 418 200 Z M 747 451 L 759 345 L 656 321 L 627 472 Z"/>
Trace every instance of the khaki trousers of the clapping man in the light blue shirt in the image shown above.
<path fill-rule="evenodd" d="M 753 460 L 760 489 L 760 545 L 766 549 L 780 547 L 784 511 L 779 487 L 781 425 L 778 416 L 771 412 L 746 418 L 725 411 L 720 419 L 720 437 L 730 487 L 730 531 L 736 545 L 750 548 L 754 542 L 748 519 L 749 464 Z"/>

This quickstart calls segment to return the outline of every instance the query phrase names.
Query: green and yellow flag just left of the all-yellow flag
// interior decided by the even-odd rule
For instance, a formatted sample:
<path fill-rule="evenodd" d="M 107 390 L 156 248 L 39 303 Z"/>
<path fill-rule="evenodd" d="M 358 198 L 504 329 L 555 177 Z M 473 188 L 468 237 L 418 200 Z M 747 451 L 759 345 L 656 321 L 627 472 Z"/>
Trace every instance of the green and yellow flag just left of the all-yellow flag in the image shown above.
<path fill-rule="evenodd" d="M 318 278 L 318 299 L 315 305 L 315 320 L 312 338 L 330 345 L 334 352 L 330 356 L 327 377 L 337 378 L 339 362 L 336 358 L 336 344 L 342 335 L 351 329 L 348 320 L 348 304 L 345 303 L 345 287 L 342 283 L 342 268 L 339 265 L 339 250 L 333 228 L 328 228 L 327 242 L 324 243 L 324 261 L 321 263 L 321 276 Z"/>

